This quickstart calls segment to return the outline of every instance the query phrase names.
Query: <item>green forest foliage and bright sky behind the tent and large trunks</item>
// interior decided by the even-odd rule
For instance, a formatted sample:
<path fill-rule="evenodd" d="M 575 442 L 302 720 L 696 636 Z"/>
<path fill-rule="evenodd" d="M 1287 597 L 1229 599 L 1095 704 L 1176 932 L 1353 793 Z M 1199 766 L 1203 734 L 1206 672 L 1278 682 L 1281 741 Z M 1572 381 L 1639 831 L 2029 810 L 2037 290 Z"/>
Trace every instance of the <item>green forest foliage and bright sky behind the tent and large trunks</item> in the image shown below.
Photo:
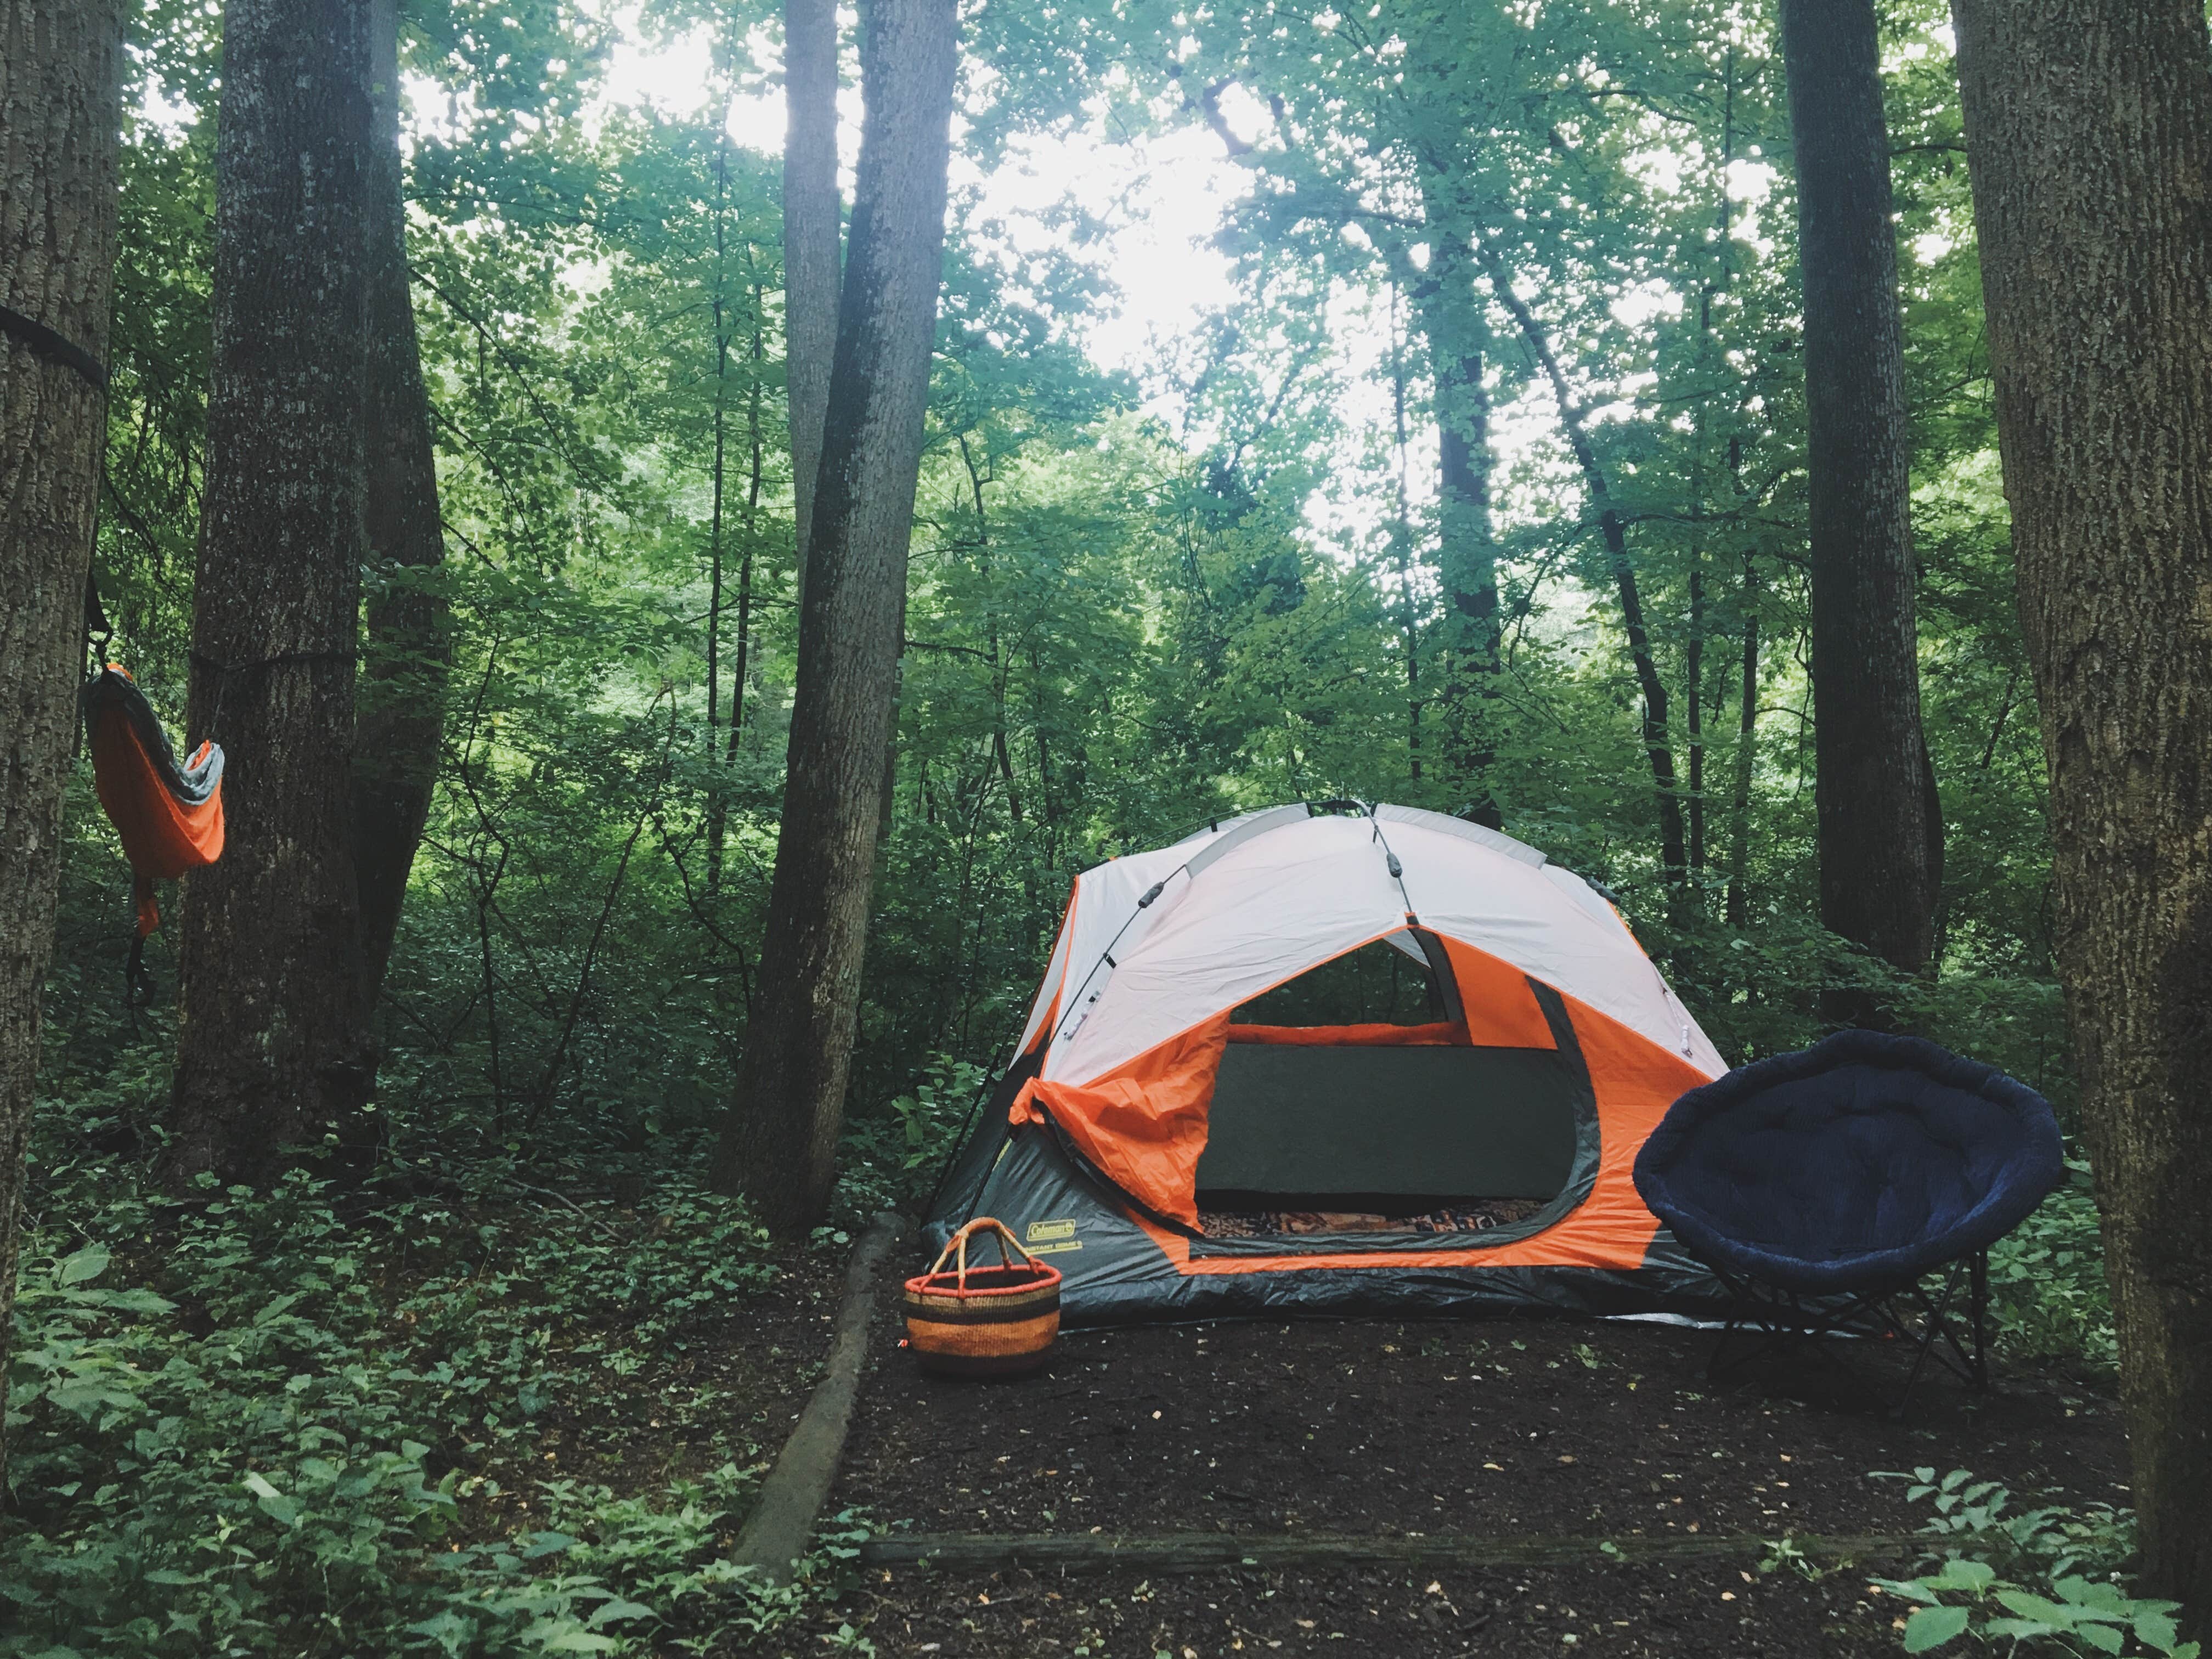
<path fill-rule="evenodd" d="M 133 24 L 95 564 L 108 655 L 179 712 L 217 22 Z M 743 7 L 405 15 L 453 666 L 374 1015 L 396 1144 L 644 1168 L 714 1117 L 743 1051 L 794 675 L 776 51 Z M 1933 964 L 1889 993 L 2064 1095 L 1942 9 L 1889 9 L 1882 58 L 1947 830 Z M 1823 989 L 1889 975 L 1814 920 L 1772 18 L 982 9 L 958 128 L 860 1124 L 1002 1062 L 1077 869 L 1276 801 L 1486 803 L 1617 896 L 1730 1057 L 1798 1044 Z M 1491 261 L 1449 361 L 1447 219 Z M 1568 425 L 1624 526 L 1641 653 Z M 1484 571 L 1495 611 L 1471 617 Z M 1495 670 L 1471 675 L 1482 626 Z M 86 807 L 49 1086 L 153 1133 L 155 1095 L 124 1079 L 161 1064 L 168 936 L 153 1006 L 126 1009 L 128 876 Z"/>

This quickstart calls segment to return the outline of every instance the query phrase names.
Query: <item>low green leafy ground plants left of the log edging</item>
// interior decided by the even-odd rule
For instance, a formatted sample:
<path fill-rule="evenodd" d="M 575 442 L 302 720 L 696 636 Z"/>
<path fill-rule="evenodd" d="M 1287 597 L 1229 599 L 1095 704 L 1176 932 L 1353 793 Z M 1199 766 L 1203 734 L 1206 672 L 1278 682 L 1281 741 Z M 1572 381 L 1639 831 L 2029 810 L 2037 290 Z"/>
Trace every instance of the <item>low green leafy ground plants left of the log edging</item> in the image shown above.
<path fill-rule="evenodd" d="M 745 1396 L 812 1376 L 823 1314 L 787 1305 L 843 1234 L 774 1254 L 684 1186 L 420 1186 L 46 1206 L 71 1234 L 27 1239 L 0 1655 L 668 1652 L 834 1577 L 838 1544 L 790 1590 L 728 1546 L 787 1425 Z"/>

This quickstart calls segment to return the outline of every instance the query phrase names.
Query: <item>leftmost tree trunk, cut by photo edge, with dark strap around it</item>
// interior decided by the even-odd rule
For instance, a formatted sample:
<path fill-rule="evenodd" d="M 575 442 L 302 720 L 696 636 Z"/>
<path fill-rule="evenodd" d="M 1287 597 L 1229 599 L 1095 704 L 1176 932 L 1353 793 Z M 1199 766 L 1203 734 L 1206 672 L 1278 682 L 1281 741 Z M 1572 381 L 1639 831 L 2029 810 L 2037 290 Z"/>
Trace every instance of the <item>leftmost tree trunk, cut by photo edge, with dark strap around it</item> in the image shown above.
<path fill-rule="evenodd" d="M 0 0 L 0 1376 L 108 409 L 122 62 L 117 0 Z"/>

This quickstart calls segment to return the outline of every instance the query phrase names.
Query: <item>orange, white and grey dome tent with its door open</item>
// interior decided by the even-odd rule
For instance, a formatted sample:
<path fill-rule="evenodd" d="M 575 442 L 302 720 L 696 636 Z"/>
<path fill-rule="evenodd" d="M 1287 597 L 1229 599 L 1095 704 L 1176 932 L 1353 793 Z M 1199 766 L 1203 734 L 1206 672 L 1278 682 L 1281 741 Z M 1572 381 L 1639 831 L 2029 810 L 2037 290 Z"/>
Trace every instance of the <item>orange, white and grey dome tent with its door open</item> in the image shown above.
<path fill-rule="evenodd" d="M 1305 1018 L 1385 978 L 1385 1018 Z M 1721 1071 L 1613 907 L 1533 847 L 1416 807 L 1272 807 L 1075 880 L 929 1232 L 1009 1223 L 1071 1325 L 1703 1312 L 1719 1285 L 1630 1170 Z"/>

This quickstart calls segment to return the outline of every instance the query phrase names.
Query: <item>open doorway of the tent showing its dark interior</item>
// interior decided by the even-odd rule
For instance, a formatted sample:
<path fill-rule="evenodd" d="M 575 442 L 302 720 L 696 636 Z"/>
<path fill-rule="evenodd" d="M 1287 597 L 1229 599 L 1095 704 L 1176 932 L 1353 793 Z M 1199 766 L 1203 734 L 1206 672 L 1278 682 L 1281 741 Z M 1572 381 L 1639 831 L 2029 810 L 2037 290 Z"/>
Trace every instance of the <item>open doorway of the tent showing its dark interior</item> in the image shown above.
<path fill-rule="evenodd" d="M 1579 1057 L 1471 1046 L 1425 945 L 1442 964 L 1433 940 L 1378 940 L 1230 1015 L 1197 1172 L 1203 1232 L 1475 1232 L 1559 1197 Z"/>

